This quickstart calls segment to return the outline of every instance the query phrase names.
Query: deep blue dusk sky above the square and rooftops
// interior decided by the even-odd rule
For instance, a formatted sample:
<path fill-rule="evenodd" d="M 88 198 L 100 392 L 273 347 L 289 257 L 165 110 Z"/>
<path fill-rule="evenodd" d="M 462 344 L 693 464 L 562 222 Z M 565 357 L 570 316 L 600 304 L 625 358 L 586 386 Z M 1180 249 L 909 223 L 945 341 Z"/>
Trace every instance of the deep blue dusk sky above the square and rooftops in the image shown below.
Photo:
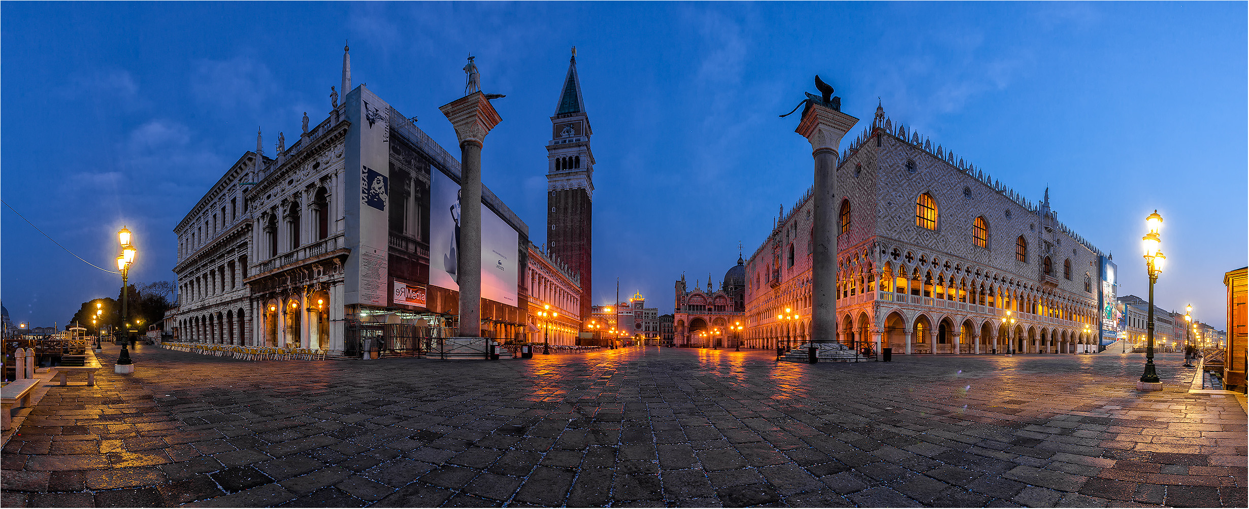
<path fill-rule="evenodd" d="M 595 297 L 662 312 L 763 241 L 811 185 L 809 145 L 778 119 L 819 74 L 842 110 L 902 121 L 1053 208 L 1145 294 L 1144 217 L 1165 218 L 1157 302 L 1224 321 L 1247 264 L 1244 2 L 1008 4 L 42 4 L 0 5 L 0 196 L 107 267 L 127 225 L 131 281 L 172 279 L 174 226 L 244 151 L 328 111 L 352 76 L 455 150 L 437 106 L 506 94 L 483 181 L 542 238 L 550 116 L 577 46 L 595 137 Z M 0 212 L 15 321 L 64 322 L 115 297 L 97 271 Z"/>

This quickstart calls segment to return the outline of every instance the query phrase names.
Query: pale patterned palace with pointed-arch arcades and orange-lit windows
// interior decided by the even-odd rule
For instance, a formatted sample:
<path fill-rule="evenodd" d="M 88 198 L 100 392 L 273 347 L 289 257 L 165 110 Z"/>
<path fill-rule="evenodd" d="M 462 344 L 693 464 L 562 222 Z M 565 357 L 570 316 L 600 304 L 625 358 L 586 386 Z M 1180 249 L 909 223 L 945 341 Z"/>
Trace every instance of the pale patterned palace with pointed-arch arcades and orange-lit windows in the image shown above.
<path fill-rule="evenodd" d="M 837 198 L 838 342 L 896 354 L 1098 351 L 1103 253 L 1058 221 L 1048 188 L 1030 202 L 878 106 L 841 152 Z M 808 190 L 746 262 L 746 344 L 811 339 L 811 215 Z"/>

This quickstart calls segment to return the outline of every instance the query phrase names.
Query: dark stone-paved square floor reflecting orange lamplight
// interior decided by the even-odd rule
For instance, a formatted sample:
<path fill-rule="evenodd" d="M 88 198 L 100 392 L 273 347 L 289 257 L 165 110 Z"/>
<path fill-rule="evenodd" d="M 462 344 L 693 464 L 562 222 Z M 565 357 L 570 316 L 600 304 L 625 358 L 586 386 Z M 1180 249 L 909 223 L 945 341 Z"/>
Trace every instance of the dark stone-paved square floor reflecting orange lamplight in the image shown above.
<path fill-rule="evenodd" d="M 5 507 L 1247 507 L 1182 354 L 247 362 L 140 347 L 5 445 Z M 101 371 L 102 372 L 102 371 Z"/>

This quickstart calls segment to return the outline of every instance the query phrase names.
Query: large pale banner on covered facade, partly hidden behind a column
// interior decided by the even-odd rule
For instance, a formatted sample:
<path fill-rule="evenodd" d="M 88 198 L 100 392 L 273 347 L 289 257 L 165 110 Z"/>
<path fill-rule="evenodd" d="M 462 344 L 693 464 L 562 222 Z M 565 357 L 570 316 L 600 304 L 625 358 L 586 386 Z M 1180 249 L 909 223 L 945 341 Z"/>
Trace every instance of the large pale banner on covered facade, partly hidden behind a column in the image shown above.
<path fill-rule="evenodd" d="M 430 284 L 460 291 L 460 185 L 430 171 Z M 520 236 L 485 203 L 481 207 L 481 297 L 517 306 Z"/>

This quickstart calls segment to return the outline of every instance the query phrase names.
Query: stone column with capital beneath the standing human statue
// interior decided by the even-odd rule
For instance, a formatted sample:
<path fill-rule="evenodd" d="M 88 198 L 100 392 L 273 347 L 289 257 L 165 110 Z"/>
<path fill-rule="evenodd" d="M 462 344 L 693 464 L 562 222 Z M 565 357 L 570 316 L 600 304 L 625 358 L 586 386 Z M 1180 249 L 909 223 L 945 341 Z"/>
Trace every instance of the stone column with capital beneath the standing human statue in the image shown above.
<path fill-rule="evenodd" d="M 481 336 L 481 148 L 502 120 L 482 92 L 438 107 L 460 138 L 460 337 Z"/>

